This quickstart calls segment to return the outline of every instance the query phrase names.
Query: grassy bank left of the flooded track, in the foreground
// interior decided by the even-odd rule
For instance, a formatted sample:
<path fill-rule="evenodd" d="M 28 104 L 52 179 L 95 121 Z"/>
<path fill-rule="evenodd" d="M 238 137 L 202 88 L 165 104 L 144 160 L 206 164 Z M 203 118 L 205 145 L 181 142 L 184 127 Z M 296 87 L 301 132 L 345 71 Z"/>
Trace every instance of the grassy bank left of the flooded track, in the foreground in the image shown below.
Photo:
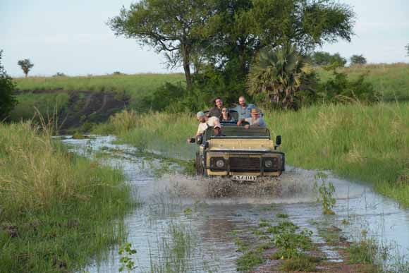
<path fill-rule="evenodd" d="M 73 272 L 121 241 L 133 201 L 118 170 L 30 123 L 0 124 L 0 272 Z"/>

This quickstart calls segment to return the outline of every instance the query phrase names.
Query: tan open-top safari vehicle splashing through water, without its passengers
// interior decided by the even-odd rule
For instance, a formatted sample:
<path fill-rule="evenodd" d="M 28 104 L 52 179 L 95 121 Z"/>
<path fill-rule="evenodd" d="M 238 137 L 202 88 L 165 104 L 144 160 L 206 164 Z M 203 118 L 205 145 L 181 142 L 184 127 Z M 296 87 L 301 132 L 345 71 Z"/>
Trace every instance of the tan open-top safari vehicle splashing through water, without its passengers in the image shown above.
<path fill-rule="evenodd" d="M 223 136 L 214 136 L 212 127 L 197 136 L 195 142 L 200 145 L 195 159 L 197 175 L 257 181 L 282 174 L 285 154 L 277 150 L 281 135 L 274 145 L 267 128 L 246 129 L 235 122 L 222 122 L 221 127 Z"/>

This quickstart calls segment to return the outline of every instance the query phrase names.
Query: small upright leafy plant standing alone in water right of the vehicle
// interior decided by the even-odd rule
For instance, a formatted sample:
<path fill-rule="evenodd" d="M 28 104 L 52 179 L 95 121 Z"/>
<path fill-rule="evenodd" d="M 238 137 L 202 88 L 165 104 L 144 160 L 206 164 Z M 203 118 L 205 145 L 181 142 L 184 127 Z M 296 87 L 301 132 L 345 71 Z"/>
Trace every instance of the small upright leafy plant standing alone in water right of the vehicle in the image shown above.
<path fill-rule="evenodd" d="M 328 176 L 321 171 L 315 174 L 314 178 L 314 189 L 318 192 L 317 202 L 322 204 L 322 213 L 335 214 L 335 212 L 332 210 L 336 203 L 336 199 L 334 198 L 334 185 L 331 182 L 326 181 Z M 318 186 L 319 181 L 321 181 L 320 186 Z"/>

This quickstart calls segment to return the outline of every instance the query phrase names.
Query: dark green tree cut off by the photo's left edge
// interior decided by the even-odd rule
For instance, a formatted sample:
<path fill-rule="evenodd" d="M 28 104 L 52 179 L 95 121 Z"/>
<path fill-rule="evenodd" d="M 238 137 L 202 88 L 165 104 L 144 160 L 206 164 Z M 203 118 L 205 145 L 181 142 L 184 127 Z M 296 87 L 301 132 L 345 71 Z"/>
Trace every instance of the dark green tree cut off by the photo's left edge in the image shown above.
<path fill-rule="evenodd" d="M 14 108 L 17 101 L 13 95 L 16 84 L 9 77 L 1 65 L 1 56 L 3 50 L 0 50 L 0 121 L 6 119 L 10 111 Z"/>

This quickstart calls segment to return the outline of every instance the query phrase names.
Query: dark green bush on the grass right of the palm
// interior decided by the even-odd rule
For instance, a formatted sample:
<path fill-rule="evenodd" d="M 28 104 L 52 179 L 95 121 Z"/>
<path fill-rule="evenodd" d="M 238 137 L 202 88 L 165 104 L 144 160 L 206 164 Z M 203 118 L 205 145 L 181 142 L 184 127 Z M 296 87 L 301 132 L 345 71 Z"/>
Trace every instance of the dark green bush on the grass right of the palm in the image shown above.
<path fill-rule="evenodd" d="M 381 95 L 374 90 L 372 83 L 366 80 L 366 75 L 359 75 L 355 80 L 348 80 L 348 75 L 337 72 L 335 66 L 330 66 L 333 78 L 317 85 L 317 98 L 326 102 L 379 102 Z"/>

